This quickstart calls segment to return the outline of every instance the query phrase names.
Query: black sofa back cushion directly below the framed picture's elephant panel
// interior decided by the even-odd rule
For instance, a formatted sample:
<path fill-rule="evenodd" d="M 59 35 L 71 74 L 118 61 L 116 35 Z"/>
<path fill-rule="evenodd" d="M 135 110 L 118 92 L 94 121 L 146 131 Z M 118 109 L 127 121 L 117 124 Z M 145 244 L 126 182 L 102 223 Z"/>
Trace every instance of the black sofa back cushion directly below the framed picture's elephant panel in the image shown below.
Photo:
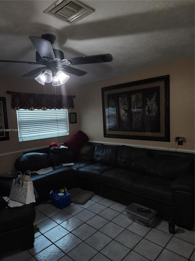
<path fill-rule="evenodd" d="M 118 151 L 118 168 L 132 169 L 132 162 L 134 160 L 147 157 L 147 149 L 135 148 L 130 146 L 119 146 Z M 133 170 L 133 169 L 132 169 Z"/>

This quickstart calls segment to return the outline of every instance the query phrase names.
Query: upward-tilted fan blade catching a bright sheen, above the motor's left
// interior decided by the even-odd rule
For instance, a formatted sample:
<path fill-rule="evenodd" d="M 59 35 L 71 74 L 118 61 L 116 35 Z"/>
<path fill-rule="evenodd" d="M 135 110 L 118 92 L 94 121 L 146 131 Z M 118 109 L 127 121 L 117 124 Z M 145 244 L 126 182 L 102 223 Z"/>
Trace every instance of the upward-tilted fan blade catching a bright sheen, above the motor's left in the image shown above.
<path fill-rule="evenodd" d="M 51 43 L 48 40 L 36 36 L 29 36 L 29 39 L 37 49 L 41 58 L 55 60 L 54 51 L 52 49 Z"/>

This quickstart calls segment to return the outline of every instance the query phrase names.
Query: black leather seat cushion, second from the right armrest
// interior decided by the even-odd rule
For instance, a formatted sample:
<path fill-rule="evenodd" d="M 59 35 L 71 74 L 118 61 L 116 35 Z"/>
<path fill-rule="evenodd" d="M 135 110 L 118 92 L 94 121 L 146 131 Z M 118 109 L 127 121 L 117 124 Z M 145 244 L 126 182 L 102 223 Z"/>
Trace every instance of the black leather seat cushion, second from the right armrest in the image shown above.
<path fill-rule="evenodd" d="M 101 174 L 101 182 L 108 186 L 131 192 L 132 182 L 142 176 L 143 174 L 137 171 L 113 169 Z"/>

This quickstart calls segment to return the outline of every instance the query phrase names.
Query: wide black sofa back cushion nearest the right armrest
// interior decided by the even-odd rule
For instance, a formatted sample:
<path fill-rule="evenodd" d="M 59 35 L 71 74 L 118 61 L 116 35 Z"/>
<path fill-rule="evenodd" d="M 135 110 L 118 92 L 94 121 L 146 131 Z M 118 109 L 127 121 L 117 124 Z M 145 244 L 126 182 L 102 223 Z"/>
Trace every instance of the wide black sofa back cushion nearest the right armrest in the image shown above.
<path fill-rule="evenodd" d="M 182 174 L 191 173 L 193 171 L 192 159 L 185 157 L 151 157 L 136 161 L 133 165 L 134 169 L 145 175 L 167 179 L 175 179 Z"/>

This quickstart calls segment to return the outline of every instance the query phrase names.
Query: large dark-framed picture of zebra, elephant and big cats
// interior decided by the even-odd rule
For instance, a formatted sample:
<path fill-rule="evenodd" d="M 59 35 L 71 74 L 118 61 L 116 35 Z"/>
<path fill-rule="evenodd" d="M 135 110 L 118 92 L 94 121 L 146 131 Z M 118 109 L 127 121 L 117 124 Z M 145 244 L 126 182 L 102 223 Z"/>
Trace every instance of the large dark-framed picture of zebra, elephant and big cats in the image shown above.
<path fill-rule="evenodd" d="M 170 142 L 169 75 L 101 88 L 104 137 Z"/>

